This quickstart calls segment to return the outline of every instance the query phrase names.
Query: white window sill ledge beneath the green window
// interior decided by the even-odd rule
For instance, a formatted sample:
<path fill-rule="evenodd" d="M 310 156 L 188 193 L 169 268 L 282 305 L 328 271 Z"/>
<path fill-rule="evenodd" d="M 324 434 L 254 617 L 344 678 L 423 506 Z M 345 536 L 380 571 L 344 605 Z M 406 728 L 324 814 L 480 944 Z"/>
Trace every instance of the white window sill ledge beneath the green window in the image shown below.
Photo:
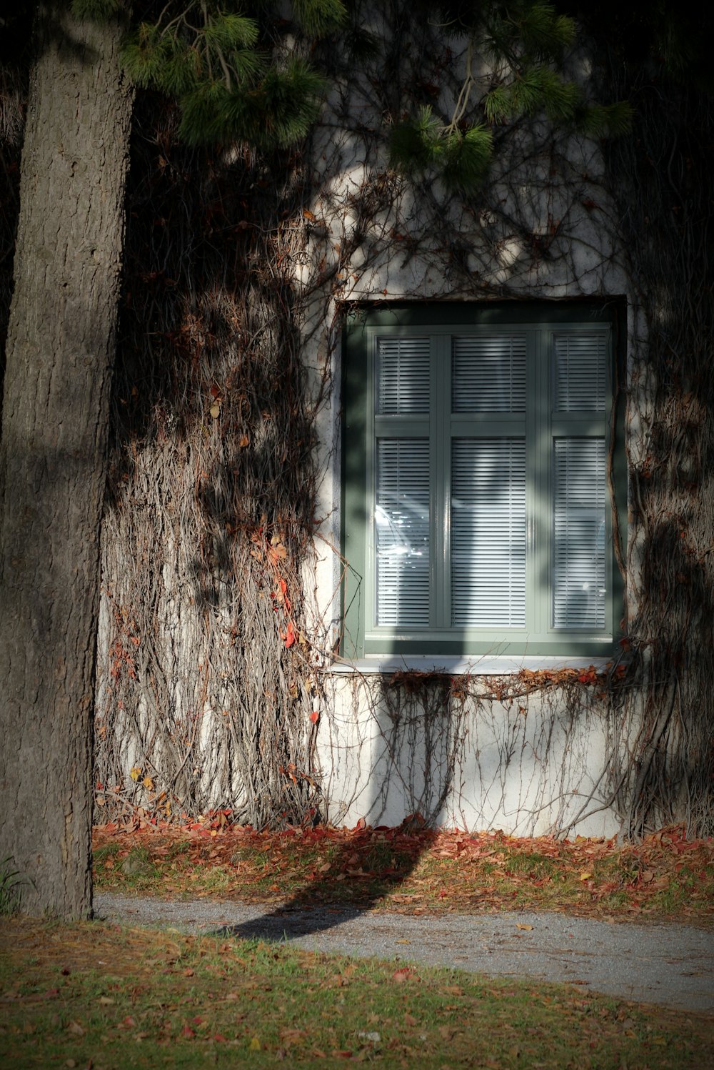
<path fill-rule="evenodd" d="M 385 673 L 391 675 L 395 672 L 428 672 L 444 673 L 449 676 L 468 674 L 470 676 L 510 676 L 519 673 L 522 669 L 529 669 L 531 672 L 547 670 L 549 672 L 559 669 L 594 669 L 602 671 L 612 663 L 611 658 L 602 657 L 546 657 L 533 655 L 531 657 L 444 657 L 439 658 L 420 657 L 419 655 L 404 657 L 385 657 L 384 655 L 372 655 L 359 658 L 355 661 L 333 661 L 325 667 L 325 672 L 337 675 L 358 673 L 367 675 L 370 673 Z"/>

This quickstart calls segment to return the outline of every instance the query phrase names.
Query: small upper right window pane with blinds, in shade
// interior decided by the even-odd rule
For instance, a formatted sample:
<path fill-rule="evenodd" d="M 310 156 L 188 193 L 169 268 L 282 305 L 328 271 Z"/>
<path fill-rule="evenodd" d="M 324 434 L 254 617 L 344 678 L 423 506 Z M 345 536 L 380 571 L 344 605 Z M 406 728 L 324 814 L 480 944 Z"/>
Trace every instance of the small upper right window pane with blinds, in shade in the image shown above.
<path fill-rule="evenodd" d="M 555 336 L 556 412 L 604 412 L 607 396 L 607 347 L 595 332 Z"/>

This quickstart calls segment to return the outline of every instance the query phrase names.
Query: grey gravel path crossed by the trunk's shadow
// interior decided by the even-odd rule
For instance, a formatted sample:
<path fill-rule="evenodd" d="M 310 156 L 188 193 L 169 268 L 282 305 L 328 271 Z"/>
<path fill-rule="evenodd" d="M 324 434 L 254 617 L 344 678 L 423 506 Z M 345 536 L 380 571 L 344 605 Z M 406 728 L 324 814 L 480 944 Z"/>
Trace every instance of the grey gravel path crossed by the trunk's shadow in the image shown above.
<path fill-rule="evenodd" d="M 563 914 L 376 914 L 268 908 L 95 895 L 100 918 L 284 941 L 306 950 L 400 959 L 476 973 L 565 981 L 596 992 L 714 1014 L 714 932 L 676 923 L 609 923 Z"/>

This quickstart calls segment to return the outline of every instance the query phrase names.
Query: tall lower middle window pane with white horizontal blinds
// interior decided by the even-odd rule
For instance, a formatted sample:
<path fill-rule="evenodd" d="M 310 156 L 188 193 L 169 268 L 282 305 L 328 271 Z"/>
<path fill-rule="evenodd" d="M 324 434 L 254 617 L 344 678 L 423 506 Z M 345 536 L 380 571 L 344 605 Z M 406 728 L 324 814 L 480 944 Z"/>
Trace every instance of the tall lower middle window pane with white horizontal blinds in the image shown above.
<path fill-rule="evenodd" d="M 454 439 L 451 464 L 452 624 L 526 625 L 526 444 Z"/>

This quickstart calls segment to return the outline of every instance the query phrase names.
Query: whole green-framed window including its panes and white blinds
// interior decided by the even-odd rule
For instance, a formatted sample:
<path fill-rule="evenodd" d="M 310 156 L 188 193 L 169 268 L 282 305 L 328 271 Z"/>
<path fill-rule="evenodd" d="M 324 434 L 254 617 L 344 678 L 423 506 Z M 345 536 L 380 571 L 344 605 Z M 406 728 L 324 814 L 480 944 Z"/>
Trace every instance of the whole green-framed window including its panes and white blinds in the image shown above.
<path fill-rule="evenodd" d="M 352 309 L 343 658 L 612 653 L 623 315 L 621 301 Z"/>

